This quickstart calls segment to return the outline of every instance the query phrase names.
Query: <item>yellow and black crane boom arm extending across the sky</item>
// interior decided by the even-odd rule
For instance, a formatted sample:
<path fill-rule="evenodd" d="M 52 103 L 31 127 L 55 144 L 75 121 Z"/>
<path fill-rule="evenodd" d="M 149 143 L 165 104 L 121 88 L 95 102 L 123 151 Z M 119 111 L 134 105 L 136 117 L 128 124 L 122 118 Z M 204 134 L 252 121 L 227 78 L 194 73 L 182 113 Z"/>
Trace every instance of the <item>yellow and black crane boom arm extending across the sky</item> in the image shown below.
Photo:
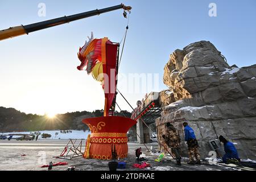
<path fill-rule="evenodd" d="M 100 9 L 100 10 L 96 9 L 96 10 L 87 11 L 87 12 L 79 13 L 79 14 L 75 14 L 75 15 L 63 16 L 60 18 L 50 19 L 50 20 L 46 20 L 43 22 L 28 24 L 26 26 L 21 25 L 21 26 L 16 26 L 16 27 L 10 27 L 6 30 L 0 31 L 0 40 L 13 38 L 15 36 L 28 34 L 30 32 L 43 30 L 45 28 L 58 26 L 60 24 L 73 22 L 75 20 L 88 18 L 88 17 L 94 16 L 94 15 L 100 15 L 102 13 L 107 13 L 109 11 L 114 11 L 114 10 L 118 10 L 118 9 L 124 9 L 124 10 L 130 11 L 131 7 L 121 4 L 121 5 L 117 5 L 117 6 L 107 7 L 105 9 Z"/>

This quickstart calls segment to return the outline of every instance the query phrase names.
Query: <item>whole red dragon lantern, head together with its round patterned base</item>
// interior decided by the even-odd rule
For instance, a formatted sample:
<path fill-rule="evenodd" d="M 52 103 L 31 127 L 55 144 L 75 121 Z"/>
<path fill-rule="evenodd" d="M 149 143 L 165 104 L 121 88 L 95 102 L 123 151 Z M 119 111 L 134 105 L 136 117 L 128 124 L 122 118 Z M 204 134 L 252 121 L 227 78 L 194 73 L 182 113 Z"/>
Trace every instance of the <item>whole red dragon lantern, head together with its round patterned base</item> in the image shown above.
<path fill-rule="evenodd" d="M 92 33 L 77 53 L 81 61 L 77 69 L 86 67 L 88 75 L 92 74 L 95 80 L 101 82 L 105 93 L 104 117 L 83 120 L 92 132 L 86 141 L 84 158 L 108 160 L 127 156 L 126 134 L 137 122 L 130 118 L 109 116 L 116 94 L 118 46 L 108 38 L 94 39 Z"/>

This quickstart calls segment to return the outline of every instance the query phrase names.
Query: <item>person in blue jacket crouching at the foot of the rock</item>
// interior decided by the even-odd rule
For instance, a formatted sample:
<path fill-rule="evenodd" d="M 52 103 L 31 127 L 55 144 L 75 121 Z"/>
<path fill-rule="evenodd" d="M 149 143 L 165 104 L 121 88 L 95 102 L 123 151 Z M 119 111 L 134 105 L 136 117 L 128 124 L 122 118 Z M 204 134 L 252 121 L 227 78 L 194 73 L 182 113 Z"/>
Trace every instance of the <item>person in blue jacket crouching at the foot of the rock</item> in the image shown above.
<path fill-rule="evenodd" d="M 220 140 L 220 142 L 224 144 L 225 155 L 223 156 L 222 161 L 224 163 L 227 163 L 229 159 L 237 159 L 240 162 L 240 158 L 238 156 L 238 152 L 234 144 L 232 142 L 229 142 L 222 135 L 220 135 L 218 139 Z"/>

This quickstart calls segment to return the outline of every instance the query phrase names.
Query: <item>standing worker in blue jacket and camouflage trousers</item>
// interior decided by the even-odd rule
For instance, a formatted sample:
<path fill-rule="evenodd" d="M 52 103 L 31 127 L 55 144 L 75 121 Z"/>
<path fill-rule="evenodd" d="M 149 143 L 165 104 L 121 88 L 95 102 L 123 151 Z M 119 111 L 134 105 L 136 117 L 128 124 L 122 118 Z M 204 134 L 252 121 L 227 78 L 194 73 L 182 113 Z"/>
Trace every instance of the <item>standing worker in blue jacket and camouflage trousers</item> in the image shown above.
<path fill-rule="evenodd" d="M 187 122 L 183 123 L 184 126 L 184 134 L 185 134 L 185 141 L 188 145 L 188 155 L 189 155 L 189 162 L 188 164 L 201 164 L 200 161 L 200 154 L 198 151 L 199 144 L 197 142 L 194 130 L 188 126 Z M 194 160 L 194 156 L 196 158 L 196 162 Z"/>

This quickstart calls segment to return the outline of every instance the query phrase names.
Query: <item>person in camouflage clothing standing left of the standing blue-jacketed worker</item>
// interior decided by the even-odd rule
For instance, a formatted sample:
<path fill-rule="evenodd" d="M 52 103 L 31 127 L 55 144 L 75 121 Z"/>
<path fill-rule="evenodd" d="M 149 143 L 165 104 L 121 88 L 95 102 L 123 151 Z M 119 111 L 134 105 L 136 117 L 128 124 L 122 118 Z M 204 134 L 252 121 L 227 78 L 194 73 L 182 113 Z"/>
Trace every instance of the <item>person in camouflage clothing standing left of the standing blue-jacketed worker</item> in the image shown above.
<path fill-rule="evenodd" d="M 180 135 L 171 123 L 166 124 L 166 135 L 162 135 L 164 142 L 171 148 L 172 154 L 176 157 L 177 165 L 181 165 Z"/>

